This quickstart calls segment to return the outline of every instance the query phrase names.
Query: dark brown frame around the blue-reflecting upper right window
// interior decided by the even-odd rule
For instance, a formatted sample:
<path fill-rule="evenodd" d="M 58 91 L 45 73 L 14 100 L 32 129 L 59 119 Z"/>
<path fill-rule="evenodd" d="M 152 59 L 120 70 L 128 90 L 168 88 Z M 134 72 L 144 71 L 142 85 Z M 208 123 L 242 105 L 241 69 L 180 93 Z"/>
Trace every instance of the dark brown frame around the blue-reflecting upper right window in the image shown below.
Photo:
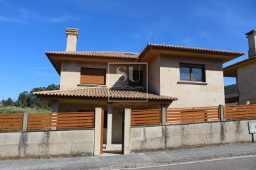
<path fill-rule="evenodd" d="M 189 82 L 206 82 L 206 67 L 205 64 L 188 64 L 180 63 L 180 81 L 187 81 L 181 79 L 181 67 L 189 69 Z M 202 69 L 202 81 L 193 80 L 193 69 Z"/>

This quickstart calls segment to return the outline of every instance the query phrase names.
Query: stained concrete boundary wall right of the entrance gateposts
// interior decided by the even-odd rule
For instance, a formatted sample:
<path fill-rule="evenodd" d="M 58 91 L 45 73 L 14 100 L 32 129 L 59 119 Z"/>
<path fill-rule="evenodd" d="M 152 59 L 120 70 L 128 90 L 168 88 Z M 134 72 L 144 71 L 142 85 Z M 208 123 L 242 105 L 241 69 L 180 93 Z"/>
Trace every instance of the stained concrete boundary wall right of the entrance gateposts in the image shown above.
<path fill-rule="evenodd" d="M 252 142 L 249 122 L 256 120 L 132 127 L 131 151 Z"/>

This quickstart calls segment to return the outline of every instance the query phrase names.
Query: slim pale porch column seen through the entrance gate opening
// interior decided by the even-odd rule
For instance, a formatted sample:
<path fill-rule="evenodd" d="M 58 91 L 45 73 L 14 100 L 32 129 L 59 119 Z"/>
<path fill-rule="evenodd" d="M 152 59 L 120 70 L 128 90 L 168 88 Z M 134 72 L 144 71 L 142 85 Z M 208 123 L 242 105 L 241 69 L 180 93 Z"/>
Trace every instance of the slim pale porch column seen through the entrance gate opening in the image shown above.
<path fill-rule="evenodd" d="M 107 103 L 107 149 L 112 147 L 112 106 L 112 103 Z"/>

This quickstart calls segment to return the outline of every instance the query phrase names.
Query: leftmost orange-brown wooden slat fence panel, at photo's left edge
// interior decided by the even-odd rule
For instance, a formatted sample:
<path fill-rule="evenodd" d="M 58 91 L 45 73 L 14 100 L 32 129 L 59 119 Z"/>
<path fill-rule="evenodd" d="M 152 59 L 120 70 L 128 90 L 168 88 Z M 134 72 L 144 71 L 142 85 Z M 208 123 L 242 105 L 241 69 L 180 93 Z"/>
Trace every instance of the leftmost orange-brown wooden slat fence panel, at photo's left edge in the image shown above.
<path fill-rule="evenodd" d="M 0 130 L 22 130 L 23 114 L 0 114 Z"/>

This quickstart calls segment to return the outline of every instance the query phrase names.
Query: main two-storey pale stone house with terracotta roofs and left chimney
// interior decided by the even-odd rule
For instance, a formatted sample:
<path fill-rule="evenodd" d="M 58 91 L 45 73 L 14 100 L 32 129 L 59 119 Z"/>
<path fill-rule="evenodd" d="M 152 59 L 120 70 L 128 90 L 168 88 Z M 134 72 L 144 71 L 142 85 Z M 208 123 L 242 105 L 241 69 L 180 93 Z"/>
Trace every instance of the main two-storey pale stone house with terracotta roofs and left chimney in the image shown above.
<path fill-rule="evenodd" d="M 57 103 L 58 112 L 93 111 L 96 106 L 104 108 L 105 121 L 107 128 L 112 129 L 114 143 L 122 141 L 124 107 L 112 108 L 108 103 L 122 103 L 132 109 L 224 104 L 223 63 L 245 54 L 159 44 L 148 44 L 141 53 L 78 52 L 78 29 L 67 28 L 66 34 L 65 52 L 46 52 L 60 75 L 60 90 L 34 94 L 52 101 L 54 112 L 57 111 Z M 128 79 L 121 81 L 123 74 L 113 74 L 118 66 L 108 64 L 110 62 L 121 63 L 121 66 L 146 63 L 148 68 L 142 67 L 142 72 L 134 70 L 132 77 L 141 77 L 135 84 L 143 88 L 147 85 L 149 93 L 139 89 L 113 88 L 135 85 Z"/>

